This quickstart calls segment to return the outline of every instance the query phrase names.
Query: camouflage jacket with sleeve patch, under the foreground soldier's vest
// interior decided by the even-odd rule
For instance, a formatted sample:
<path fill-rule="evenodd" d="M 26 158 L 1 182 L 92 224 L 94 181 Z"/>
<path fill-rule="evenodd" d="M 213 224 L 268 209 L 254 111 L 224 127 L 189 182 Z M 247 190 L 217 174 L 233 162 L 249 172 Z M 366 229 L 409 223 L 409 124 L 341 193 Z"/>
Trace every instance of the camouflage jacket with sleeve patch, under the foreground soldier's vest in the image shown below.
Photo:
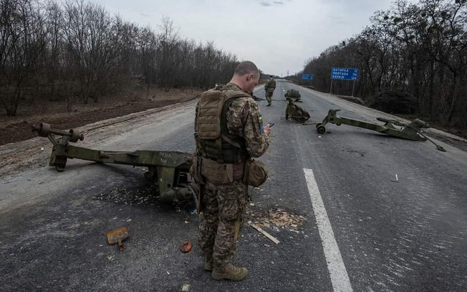
<path fill-rule="evenodd" d="M 220 90 L 241 90 L 239 86 L 233 83 L 216 84 L 216 88 Z M 195 132 L 197 131 L 198 105 L 196 109 Z M 235 98 L 227 109 L 226 120 L 229 133 L 238 135 L 245 140 L 246 149 L 251 157 L 260 157 L 266 152 L 269 143 L 266 134 L 263 132 L 260 108 L 252 97 Z"/>

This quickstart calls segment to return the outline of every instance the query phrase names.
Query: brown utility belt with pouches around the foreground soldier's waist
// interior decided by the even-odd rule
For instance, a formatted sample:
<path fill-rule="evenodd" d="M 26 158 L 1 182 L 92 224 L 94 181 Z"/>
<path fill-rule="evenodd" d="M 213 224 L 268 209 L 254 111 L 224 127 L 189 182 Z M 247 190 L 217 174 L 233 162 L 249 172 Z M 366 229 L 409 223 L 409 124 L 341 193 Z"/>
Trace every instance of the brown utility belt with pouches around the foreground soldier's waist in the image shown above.
<path fill-rule="evenodd" d="M 249 186 L 258 187 L 267 180 L 267 170 L 263 162 L 252 158 L 240 163 L 219 163 L 195 157 L 190 174 L 199 184 L 232 184 L 234 181 L 243 181 Z"/>

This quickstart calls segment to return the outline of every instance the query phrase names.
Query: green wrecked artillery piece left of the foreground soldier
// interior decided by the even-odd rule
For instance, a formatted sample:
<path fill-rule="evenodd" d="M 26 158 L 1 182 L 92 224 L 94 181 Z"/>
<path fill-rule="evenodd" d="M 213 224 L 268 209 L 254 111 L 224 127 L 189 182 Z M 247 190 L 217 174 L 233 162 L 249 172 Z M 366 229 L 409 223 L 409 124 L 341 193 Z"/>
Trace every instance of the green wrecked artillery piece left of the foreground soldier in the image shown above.
<path fill-rule="evenodd" d="M 133 152 L 101 151 L 70 145 L 84 139 L 78 130 L 53 130 L 49 124 L 33 126 L 33 131 L 47 137 L 54 144 L 49 165 L 57 171 L 64 171 L 67 159 L 82 159 L 101 163 L 145 166 L 144 176 L 151 180 L 159 190 L 162 202 L 179 202 L 194 199 L 196 192 L 188 181 L 191 155 L 177 151 L 136 150 Z"/>

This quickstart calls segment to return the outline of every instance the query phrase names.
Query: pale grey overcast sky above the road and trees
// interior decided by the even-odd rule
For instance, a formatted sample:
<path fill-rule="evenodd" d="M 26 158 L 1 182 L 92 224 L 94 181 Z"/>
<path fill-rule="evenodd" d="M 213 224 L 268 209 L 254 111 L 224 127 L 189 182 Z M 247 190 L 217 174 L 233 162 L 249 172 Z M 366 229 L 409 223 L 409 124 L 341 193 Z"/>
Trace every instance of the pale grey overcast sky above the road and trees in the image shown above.
<path fill-rule="evenodd" d="M 392 0 L 92 0 L 125 20 L 158 29 L 169 17 L 184 38 L 251 60 L 284 76 L 351 37 Z"/>

